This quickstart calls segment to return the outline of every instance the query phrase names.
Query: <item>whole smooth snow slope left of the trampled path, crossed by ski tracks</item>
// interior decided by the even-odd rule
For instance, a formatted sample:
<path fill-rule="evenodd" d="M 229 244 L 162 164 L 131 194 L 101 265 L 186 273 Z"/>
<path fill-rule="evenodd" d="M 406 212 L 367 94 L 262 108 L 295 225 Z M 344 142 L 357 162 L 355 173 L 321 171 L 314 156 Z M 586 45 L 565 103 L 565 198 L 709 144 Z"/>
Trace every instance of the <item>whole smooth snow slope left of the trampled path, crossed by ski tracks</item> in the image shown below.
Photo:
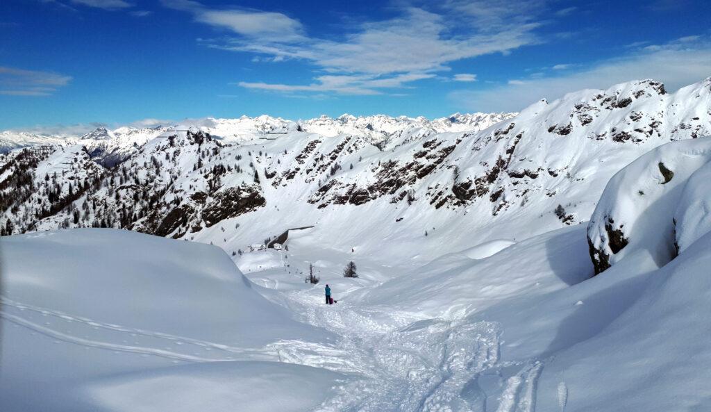
<path fill-rule="evenodd" d="M 3 411 L 303 411 L 338 378 L 279 363 L 268 344 L 328 334 L 213 246 L 78 229 L 0 251 Z"/>

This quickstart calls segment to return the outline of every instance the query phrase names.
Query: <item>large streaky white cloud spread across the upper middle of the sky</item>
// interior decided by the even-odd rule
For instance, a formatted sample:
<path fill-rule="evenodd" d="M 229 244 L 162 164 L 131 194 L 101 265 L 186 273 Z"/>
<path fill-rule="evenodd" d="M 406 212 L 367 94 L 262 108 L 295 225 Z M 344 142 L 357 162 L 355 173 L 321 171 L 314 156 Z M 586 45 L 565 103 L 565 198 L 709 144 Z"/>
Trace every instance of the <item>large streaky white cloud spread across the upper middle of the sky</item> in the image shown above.
<path fill-rule="evenodd" d="M 210 48 L 252 53 L 255 61 L 298 59 L 312 63 L 313 82 L 301 85 L 238 82 L 244 88 L 293 92 L 378 94 L 384 88 L 434 78 L 449 63 L 490 53 L 509 53 L 538 43 L 540 1 L 449 0 L 428 7 L 402 6 L 384 21 L 344 25 L 338 40 L 308 36 L 300 21 L 253 9 L 214 9 L 193 0 L 162 0 L 195 21 L 226 29 L 232 36 L 198 39 Z M 486 7 L 485 7 L 486 6 Z M 458 81 L 473 81 L 469 75 Z"/>

